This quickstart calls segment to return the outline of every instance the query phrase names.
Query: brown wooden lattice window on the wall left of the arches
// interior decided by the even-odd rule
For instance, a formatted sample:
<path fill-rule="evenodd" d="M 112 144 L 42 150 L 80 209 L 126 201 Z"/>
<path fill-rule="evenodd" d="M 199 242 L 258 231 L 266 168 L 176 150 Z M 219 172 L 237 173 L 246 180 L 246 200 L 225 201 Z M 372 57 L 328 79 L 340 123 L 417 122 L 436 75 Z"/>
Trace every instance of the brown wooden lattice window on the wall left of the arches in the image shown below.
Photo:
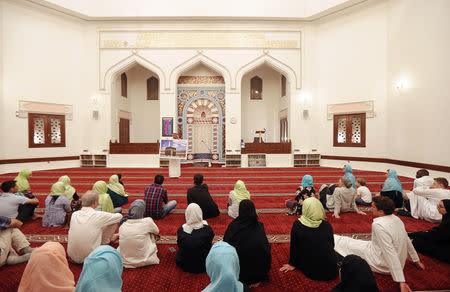
<path fill-rule="evenodd" d="M 28 114 L 28 147 L 65 147 L 64 115 Z"/>

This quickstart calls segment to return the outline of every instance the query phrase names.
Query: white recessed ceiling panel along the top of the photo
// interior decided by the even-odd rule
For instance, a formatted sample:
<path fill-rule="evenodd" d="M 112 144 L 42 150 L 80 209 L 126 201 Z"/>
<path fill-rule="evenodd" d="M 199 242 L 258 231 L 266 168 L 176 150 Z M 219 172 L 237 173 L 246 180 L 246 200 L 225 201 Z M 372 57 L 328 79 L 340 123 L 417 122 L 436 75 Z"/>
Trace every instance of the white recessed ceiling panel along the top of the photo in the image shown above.
<path fill-rule="evenodd" d="M 249 18 L 308 20 L 367 0 L 28 0 L 87 19 Z"/>

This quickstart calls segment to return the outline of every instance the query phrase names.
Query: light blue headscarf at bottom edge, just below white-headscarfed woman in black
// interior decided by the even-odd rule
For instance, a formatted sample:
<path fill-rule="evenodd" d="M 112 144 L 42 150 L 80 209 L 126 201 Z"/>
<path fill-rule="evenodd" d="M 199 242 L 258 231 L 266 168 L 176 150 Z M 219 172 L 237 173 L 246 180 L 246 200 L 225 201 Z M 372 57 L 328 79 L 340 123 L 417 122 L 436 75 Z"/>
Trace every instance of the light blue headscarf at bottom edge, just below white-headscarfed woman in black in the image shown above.
<path fill-rule="evenodd" d="M 224 241 L 213 245 L 206 257 L 206 272 L 211 283 L 203 292 L 242 292 L 239 282 L 239 257 L 234 247 Z"/>

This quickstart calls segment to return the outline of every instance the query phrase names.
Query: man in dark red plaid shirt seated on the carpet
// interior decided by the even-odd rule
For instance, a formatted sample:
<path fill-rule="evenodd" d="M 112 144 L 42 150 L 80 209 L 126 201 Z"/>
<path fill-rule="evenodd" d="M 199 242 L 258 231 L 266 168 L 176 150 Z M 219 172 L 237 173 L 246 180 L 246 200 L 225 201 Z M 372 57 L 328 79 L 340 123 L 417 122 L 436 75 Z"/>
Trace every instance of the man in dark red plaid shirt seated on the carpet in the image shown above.
<path fill-rule="evenodd" d="M 155 175 L 154 183 L 144 191 L 145 217 L 162 219 L 177 206 L 177 201 L 168 201 L 167 190 L 162 187 L 164 176 Z"/>

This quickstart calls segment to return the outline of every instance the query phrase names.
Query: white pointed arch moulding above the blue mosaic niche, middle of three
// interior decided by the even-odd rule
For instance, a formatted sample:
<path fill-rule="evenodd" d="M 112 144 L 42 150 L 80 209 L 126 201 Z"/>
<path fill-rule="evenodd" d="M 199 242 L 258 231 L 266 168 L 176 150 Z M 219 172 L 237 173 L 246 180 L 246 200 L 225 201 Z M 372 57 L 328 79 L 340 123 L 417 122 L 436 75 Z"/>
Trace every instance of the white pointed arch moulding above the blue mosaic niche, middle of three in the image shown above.
<path fill-rule="evenodd" d="M 187 59 L 183 63 L 176 66 L 170 72 L 170 77 L 166 83 L 166 90 L 169 90 L 171 88 L 176 90 L 177 81 L 178 81 L 178 78 L 180 77 L 180 75 L 183 72 L 197 66 L 198 64 L 203 64 L 203 65 L 210 67 L 211 69 L 219 72 L 223 76 L 223 79 L 225 80 L 225 90 L 227 91 L 231 88 L 231 73 L 230 73 L 230 71 L 228 71 L 228 69 L 225 66 L 223 66 L 222 64 L 220 64 L 219 62 L 205 56 L 202 52 L 199 52 L 194 57 Z"/>

